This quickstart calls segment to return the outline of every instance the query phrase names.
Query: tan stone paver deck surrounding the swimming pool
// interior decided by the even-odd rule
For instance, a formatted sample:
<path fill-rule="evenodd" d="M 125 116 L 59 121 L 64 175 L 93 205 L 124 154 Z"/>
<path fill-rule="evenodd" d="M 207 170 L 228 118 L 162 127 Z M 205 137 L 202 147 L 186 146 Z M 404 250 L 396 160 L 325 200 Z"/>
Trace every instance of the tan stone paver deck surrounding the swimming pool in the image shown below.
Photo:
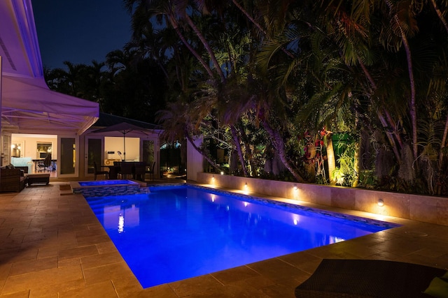
<path fill-rule="evenodd" d="M 444 249 L 448 227 L 343 210 L 402 227 L 142 289 L 85 199 L 59 191 L 59 185 L 65 184 L 51 182 L 20 193 L 0 193 L 0 298 L 293 298 L 294 288 L 322 258 L 397 260 L 448 268 Z"/>

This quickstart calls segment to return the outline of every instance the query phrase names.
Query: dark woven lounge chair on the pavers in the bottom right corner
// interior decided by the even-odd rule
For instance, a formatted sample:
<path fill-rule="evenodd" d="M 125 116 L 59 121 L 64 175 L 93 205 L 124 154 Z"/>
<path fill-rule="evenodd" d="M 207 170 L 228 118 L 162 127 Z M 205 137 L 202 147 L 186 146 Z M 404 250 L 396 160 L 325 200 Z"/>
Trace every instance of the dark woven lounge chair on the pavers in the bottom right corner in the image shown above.
<path fill-rule="evenodd" d="M 295 297 L 431 297 L 423 292 L 447 270 L 387 260 L 324 259 Z"/>

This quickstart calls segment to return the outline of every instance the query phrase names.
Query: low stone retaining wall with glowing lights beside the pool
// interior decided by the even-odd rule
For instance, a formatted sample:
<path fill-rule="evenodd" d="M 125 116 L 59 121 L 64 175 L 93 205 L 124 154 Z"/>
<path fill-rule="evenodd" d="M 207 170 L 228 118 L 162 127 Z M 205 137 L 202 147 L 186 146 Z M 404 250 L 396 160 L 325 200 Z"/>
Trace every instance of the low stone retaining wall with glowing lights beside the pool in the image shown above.
<path fill-rule="evenodd" d="M 212 173 L 197 173 L 197 183 L 289 198 L 314 204 L 448 225 L 448 198 L 301 184 Z M 378 202 L 383 205 L 379 206 Z"/>

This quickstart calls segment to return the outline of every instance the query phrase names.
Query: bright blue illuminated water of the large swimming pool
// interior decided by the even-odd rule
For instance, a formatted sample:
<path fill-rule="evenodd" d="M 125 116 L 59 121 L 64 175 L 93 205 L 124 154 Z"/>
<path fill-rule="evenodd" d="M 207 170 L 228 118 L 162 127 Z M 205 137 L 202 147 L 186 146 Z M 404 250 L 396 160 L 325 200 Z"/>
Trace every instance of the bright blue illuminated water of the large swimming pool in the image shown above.
<path fill-rule="evenodd" d="M 86 200 L 144 288 L 397 226 L 193 186 Z"/>

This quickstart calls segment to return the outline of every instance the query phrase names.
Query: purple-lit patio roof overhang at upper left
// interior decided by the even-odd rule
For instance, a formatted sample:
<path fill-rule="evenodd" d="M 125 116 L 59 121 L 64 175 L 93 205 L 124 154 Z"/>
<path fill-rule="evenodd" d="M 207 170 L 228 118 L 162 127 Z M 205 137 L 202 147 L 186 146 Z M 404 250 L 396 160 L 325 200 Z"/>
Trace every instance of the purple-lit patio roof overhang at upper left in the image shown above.
<path fill-rule="evenodd" d="M 78 134 L 99 117 L 99 105 L 51 91 L 43 77 L 31 0 L 0 1 L 1 130 Z"/>

